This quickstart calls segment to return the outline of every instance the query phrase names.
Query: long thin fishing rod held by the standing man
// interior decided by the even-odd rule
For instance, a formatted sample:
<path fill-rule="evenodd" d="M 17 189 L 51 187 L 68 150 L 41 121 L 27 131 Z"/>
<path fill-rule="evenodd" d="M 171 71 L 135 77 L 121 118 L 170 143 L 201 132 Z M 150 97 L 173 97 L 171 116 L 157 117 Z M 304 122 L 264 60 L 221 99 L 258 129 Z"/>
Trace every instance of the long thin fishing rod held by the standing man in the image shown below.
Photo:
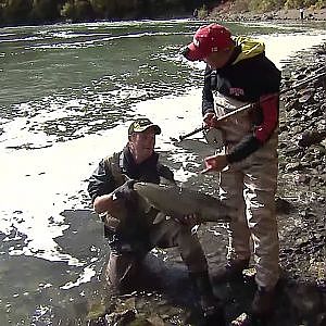
<path fill-rule="evenodd" d="M 324 67 L 322 67 L 322 68 L 324 68 Z M 321 68 L 321 70 L 322 70 L 322 68 Z M 321 70 L 317 70 L 317 71 L 321 71 Z M 308 83 L 310 83 L 310 82 L 313 82 L 313 80 L 315 80 L 315 79 L 317 79 L 317 78 L 321 78 L 321 77 L 323 77 L 323 76 L 326 76 L 326 72 L 324 72 L 324 73 L 322 73 L 322 74 L 318 74 L 318 75 L 316 75 L 316 76 L 310 77 L 310 78 L 308 78 L 308 79 L 305 79 L 305 80 L 299 82 L 299 83 L 294 84 L 292 87 L 281 90 L 281 91 L 279 92 L 279 95 L 283 95 L 283 93 L 288 92 L 288 91 L 290 91 L 290 90 L 297 89 L 297 88 L 299 88 L 299 87 L 301 87 L 301 86 L 303 86 L 303 85 L 305 85 L 305 84 L 308 84 Z M 233 112 L 229 112 L 229 113 L 227 113 L 227 114 L 225 114 L 225 115 L 218 117 L 218 118 L 216 120 L 216 123 L 217 123 L 217 122 L 225 121 L 225 120 L 227 120 L 228 117 L 234 116 L 234 115 L 237 115 L 238 113 L 241 113 L 241 112 L 247 111 L 247 110 L 249 110 L 249 109 L 253 109 L 255 105 L 256 105 L 256 103 L 249 103 L 249 104 L 242 105 L 242 106 L 240 106 L 239 109 L 237 109 L 237 110 L 235 110 L 235 111 L 233 111 Z M 197 134 L 197 133 L 206 130 L 206 129 L 209 129 L 209 128 L 210 128 L 210 127 L 202 126 L 202 127 L 196 128 L 195 130 L 192 130 L 192 131 L 190 131 L 190 133 L 188 133 L 188 134 L 180 135 L 180 136 L 179 136 L 179 141 L 183 141 L 184 139 L 186 139 L 186 138 L 188 138 L 188 137 L 190 137 L 190 136 L 192 136 L 192 135 L 195 135 L 195 134 Z"/>

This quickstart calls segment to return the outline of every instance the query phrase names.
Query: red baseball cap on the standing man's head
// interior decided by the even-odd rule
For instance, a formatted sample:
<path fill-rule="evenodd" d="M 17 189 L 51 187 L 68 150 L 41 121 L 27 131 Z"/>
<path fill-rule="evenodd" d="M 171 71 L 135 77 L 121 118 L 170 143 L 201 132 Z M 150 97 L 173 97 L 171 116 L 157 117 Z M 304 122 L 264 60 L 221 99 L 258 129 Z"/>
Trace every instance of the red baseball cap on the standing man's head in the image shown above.
<path fill-rule="evenodd" d="M 201 26 L 193 35 L 193 40 L 183 52 L 190 61 L 203 60 L 212 52 L 225 49 L 233 43 L 230 32 L 222 25 Z"/>

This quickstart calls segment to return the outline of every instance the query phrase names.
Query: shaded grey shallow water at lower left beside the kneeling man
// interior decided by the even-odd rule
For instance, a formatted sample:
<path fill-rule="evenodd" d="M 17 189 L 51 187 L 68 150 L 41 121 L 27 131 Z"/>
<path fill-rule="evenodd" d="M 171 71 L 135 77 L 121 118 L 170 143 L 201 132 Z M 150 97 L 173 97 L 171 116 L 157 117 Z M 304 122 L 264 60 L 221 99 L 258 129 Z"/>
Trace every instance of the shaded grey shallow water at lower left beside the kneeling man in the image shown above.
<path fill-rule="evenodd" d="M 77 325 L 80 312 L 87 311 L 88 301 L 101 289 L 97 278 L 91 278 L 103 265 L 100 252 L 105 243 L 95 236 L 100 235 L 101 225 L 89 210 L 66 215 L 72 217 L 72 226 L 55 239 L 58 251 L 74 253 L 77 262 L 68 254 L 60 259 L 57 252 L 52 259 L 43 259 L 41 249 L 28 252 L 26 237 L 14 230 L 9 236 L 1 234 L 1 325 L 68 325 L 66 321 Z"/>

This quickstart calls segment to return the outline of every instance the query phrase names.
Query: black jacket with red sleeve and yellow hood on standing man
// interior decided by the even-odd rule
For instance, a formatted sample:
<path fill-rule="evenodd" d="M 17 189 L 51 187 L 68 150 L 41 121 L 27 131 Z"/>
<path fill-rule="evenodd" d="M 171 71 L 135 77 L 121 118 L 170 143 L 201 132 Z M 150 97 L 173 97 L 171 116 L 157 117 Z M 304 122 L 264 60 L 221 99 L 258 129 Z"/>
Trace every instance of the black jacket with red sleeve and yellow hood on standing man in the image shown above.
<path fill-rule="evenodd" d="M 227 155 L 229 163 L 241 161 L 269 139 L 278 125 L 280 72 L 265 57 L 264 45 L 246 37 L 235 38 L 228 63 L 218 70 L 206 66 L 202 114 L 214 112 L 213 91 L 242 102 L 258 103 L 253 133 Z"/>

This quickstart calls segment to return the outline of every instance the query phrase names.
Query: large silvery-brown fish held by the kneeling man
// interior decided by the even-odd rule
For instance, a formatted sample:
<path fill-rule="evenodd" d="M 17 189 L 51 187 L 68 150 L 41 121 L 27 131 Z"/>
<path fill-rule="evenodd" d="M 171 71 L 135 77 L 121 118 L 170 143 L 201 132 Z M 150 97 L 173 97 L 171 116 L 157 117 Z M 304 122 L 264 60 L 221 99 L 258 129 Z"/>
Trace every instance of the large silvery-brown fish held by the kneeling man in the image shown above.
<path fill-rule="evenodd" d="M 167 216 L 180 217 L 196 214 L 198 223 L 230 222 L 228 208 L 216 197 L 177 185 L 136 181 L 133 189 L 152 208 Z M 164 214 L 158 214 L 153 224 Z M 158 218 L 160 221 L 158 221 Z"/>

